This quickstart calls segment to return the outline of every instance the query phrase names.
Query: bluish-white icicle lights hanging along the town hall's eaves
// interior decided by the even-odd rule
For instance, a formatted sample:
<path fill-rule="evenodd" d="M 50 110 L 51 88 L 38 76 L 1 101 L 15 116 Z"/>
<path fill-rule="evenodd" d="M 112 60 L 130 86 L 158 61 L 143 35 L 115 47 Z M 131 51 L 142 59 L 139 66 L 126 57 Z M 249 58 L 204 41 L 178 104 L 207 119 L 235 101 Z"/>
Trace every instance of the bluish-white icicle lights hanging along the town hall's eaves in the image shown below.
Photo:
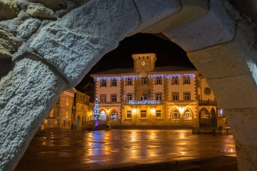
<path fill-rule="evenodd" d="M 157 78 L 157 77 L 162 77 L 162 78 L 166 78 L 166 79 L 169 79 L 169 78 L 173 78 L 175 76 L 177 76 L 178 78 L 180 78 L 182 74 L 148 74 L 148 78 Z M 196 75 L 195 74 L 183 74 L 184 76 L 190 76 L 192 78 L 195 78 Z M 130 79 L 140 79 L 141 78 L 141 75 L 123 75 L 123 76 L 119 76 L 119 77 L 95 77 L 94 78 L 94 81 L 101 81 L 102 79 L 105 79 L 106 81 L 111 81 L 111 80 L 126 80 L 127 78 L 130 78 Z"/>

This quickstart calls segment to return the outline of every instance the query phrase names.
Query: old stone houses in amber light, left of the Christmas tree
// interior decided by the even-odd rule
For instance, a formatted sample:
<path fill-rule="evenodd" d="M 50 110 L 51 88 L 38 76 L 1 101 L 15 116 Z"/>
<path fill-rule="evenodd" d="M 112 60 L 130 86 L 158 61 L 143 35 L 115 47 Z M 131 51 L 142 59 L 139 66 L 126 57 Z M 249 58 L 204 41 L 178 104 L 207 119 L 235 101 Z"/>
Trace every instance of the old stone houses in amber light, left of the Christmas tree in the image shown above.
<path fill-rule="evenodd" d="M 90 117 L 92 106 L 89 96 L 75 88 L 63 91 L 40 129 L 79 129 L 84 118 Z"/>

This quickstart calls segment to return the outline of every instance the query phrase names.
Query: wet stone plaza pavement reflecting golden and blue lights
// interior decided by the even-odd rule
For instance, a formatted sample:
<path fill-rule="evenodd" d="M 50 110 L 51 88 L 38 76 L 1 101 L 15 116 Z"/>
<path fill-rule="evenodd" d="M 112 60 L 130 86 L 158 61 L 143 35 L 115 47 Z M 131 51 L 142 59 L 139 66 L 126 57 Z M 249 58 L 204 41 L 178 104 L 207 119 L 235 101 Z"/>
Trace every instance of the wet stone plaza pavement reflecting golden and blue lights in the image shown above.
<path fill-rule="evenodd" d="M 136 168 L 158 163 L 172 165 L 196 162 L 214 156 L 223 157 L 216 157 L 216 165 L 219 165 L 219 160 L 227 159 L 230 163 L 235 163 L 235 158 L 232 160 L 227 157 L 235 157 L 236 153 L 232 135 L 192 134 L 191 131 L 40 130 L 30 142 L 15 170 Z"/>

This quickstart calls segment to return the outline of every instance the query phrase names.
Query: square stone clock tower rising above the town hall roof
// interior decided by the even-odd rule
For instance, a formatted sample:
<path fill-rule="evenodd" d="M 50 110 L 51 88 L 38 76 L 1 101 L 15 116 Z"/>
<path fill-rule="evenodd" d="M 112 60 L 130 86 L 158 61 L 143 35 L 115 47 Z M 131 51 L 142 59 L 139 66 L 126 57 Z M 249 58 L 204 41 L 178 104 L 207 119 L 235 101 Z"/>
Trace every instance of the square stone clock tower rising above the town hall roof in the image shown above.
<path fill-rule="evenodd" d="M 134 54 L 134 72 L 139 72 L 141 76 L 145 77 L 147 72 L 154 71 L 154 64 L 156 55 L 154 53 Z"/>

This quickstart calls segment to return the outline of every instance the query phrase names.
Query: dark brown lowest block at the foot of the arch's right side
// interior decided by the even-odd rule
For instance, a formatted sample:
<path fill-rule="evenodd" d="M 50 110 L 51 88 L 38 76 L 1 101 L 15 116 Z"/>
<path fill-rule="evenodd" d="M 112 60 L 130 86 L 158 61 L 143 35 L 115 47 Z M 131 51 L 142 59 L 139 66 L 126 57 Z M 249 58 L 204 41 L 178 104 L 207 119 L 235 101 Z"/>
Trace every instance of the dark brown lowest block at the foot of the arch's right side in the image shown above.
<path fill-rule="evenodd" d="M 257 137 L 255 137 L 256 139 Z M 257 168 L 256 146 L 245 146 L 236 143 L 236 158 L 238 171 L 255 171 Z"/>

